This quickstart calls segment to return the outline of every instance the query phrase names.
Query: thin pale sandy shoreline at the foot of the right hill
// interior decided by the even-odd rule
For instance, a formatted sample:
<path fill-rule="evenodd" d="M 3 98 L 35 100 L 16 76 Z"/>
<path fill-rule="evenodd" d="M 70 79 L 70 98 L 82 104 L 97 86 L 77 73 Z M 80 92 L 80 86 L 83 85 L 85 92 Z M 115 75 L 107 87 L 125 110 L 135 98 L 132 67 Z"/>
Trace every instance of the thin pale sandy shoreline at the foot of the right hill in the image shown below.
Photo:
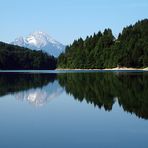
<path fill-rule="evenodd" d="M 148 71 L 148 67 L 147 68 L 127 68 L 127 67 L 115 67 L 115 68 L 105 68 L 105 69 L 70 69 L 70 68 L 57 68 L 56 70 L 141 70 L 141 71 Z"/>

